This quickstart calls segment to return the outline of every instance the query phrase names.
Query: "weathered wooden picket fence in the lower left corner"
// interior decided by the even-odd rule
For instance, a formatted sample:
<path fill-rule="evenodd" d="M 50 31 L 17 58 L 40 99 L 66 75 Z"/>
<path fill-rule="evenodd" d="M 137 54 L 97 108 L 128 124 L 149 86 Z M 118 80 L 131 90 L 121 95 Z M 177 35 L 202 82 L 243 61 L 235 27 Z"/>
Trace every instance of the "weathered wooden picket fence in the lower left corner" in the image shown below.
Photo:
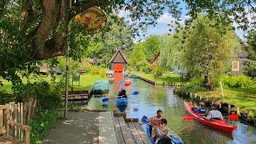
<path fill-rule="evenodd" d="M 31 127 L 23 124 L 24 114 L 26 110 L 23 109 L 22 103 L 10 102 L 0 105 L 0 143 L 7 140 L 30 143 Z"/>

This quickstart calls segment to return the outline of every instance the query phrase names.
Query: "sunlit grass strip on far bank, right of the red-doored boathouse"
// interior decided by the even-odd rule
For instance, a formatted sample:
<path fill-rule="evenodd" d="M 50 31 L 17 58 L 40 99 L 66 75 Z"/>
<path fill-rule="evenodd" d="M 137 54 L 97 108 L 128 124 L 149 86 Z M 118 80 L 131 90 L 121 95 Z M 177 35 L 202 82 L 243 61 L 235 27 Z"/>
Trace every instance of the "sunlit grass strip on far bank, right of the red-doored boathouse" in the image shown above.
<path fill-rule="evenodd" d="M 157 82 L 158 84 L 162 84 L 163 82 L 181 84 L 185 82 L 184 79 L 179 78 L 179 74 L 166 73 L 166 74 L 162 74 L 162 76 L 159 77 L 158 79 L 155 79 L 153 74 L 145 74 L 142 72 L 134 72 L 132 74 L 137 74 L 142 78 L 150 79 L 151 81 Z"/>

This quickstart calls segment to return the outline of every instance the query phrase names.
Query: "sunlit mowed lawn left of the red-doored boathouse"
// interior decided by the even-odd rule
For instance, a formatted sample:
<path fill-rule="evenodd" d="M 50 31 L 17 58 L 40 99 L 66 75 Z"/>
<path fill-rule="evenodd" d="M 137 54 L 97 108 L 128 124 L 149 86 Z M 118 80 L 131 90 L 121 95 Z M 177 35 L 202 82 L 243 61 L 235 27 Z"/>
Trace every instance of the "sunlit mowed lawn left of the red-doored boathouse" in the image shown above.
<path fill-rule="evenodd" d="M 30 82 L 40 82 L 43 80 L 46 82 L 50 82 L 51 79 L 52 78 L 48 75 L 40 75 L 36 78 L 31 77 Z M 56 81 L 59 82 L 60 80 L 65 82 L 65 78 L 63 78 L 62 76 L 59 76 L 59 75 L 56 76 Z M 88 90 L 94 85 L 94 82 L 96 82 L 97 80 L 106 80 L 106 78 L 102 78 L 99 75 L 81 74 L 80 75 L 80 85 L 79 85 L 79 82 L 73 82 L 73 86 L 74 86 L 73 90 Z M 6 91 L 6 92 L 10 93 L 12 83 L 2 80 L 2 78 L 0 79 L 0 81 L 2 81 L 2 84 L 3 84 L 3 86 L 0 86 L 0 91 Z M 23 78 L 22 81 L 24 83 L 26 83 L 27 78 Z M 72 78 L 70 78 L 70 90 L 71 90 L 71 86 L 72 86 Z"/>

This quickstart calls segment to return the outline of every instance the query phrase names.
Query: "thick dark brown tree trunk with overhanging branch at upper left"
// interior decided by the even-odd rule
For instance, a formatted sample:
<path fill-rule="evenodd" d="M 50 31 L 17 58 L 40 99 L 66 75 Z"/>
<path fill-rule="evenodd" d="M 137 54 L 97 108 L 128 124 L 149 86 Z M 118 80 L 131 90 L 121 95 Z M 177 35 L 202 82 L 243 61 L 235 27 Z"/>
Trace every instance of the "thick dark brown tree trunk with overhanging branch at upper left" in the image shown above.
<path fill-rule="evenodd" d="M 27 0 L 23 1 L 27 2 Z M 72 2 L 74 3 L 74 1 Z M 102 0 L 79 2 L 75 4 L 75 11 L 71 13 L 69 0 L 42 0 L 42 21 L 31 35 L 33 39 L 31 58 L 40 60 L 65 55 L 68 34 L 66 26 L 70 20 L 83 10 L 102 5 L 102 2 Z M 30 14 L 31 12 L 26 13 Z M 56 30 L 60 23 L 64 23 L 64 26 Z"/>

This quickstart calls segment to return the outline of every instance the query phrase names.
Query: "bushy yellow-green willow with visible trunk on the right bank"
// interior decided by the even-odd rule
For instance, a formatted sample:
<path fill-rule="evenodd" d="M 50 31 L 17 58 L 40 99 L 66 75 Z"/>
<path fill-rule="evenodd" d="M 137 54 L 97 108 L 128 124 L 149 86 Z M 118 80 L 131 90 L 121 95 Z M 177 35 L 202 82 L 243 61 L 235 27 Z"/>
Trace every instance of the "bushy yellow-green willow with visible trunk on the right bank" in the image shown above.
<path fill-rule="evenodd" d="M 182 60 L 190 78 L 203 74 L 207 89 L 214 90 L 214 80 L 224 73 L 224 67 L 234 57 L 234 49 L 240 46 L 240 41 L 234 31 L 222 34 L 222 30 L 210 24 L 214 21 L 204 17 L 194 21 L 183 46 Z"/>

